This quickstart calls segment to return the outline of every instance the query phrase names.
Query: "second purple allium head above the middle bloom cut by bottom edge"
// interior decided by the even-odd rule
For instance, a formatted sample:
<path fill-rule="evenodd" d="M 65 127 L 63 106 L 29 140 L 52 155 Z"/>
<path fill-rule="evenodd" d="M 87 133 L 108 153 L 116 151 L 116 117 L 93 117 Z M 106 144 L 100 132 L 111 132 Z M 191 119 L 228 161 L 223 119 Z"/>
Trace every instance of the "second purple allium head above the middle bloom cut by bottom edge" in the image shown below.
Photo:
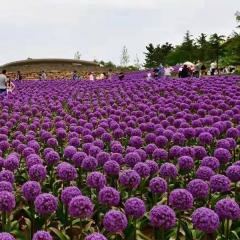
<path fill-rule="evenodd" d="M 41 186 L 34 181 L 28 181 L 22 185 L 22 194 L 28 201 L 33 201 L 41 194 Z"/>

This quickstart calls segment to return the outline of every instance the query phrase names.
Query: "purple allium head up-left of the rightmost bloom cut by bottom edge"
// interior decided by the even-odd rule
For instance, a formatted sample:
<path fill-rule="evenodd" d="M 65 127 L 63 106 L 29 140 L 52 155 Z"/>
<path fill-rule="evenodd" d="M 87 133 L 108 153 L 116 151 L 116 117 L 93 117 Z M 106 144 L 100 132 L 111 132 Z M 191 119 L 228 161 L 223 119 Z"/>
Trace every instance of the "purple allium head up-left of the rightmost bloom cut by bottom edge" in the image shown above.
<path fill-rule="evenodd" d="M 76 218 L 88 218 L 93 214 L 93 204 L 88 197 L 74 197 L 68 204 L 69 213 Z"/>

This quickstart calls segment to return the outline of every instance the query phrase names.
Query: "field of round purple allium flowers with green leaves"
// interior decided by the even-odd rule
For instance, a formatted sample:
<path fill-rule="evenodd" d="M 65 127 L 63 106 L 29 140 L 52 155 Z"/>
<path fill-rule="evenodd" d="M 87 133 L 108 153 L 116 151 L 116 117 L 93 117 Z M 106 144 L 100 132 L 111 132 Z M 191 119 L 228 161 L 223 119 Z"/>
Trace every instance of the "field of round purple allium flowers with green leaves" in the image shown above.
<path fill-rule="evenodd" d="M 240 239 L 240 78 L 143 75 L 0 95 L 0 240 Z"/>

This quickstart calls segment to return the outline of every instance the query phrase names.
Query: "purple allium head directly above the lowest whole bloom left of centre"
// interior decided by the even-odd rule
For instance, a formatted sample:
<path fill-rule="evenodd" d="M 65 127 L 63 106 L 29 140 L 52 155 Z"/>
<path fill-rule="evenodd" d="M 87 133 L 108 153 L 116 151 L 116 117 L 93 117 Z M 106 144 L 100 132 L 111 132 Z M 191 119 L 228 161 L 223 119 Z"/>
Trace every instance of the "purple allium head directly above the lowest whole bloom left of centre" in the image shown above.
<path fill-rule="evenodd" d="M 117 206 L 120 202 L 120 193 L 112 187 L 104 187 L 98 194 L 99 202 L 107 206 Z"/>

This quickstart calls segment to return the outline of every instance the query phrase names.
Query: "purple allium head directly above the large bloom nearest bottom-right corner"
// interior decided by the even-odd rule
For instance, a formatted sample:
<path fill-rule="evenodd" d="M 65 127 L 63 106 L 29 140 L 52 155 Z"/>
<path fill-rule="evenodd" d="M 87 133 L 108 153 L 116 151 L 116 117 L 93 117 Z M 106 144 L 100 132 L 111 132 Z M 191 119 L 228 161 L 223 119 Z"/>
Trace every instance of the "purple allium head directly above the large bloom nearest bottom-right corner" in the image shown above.
<path fill-rule="evenodd" d="M 211 177 L 210 188 L 215 192 L 228 192 L 231 189 L 231 183 L 226 176 L 218 174 Z"/>

